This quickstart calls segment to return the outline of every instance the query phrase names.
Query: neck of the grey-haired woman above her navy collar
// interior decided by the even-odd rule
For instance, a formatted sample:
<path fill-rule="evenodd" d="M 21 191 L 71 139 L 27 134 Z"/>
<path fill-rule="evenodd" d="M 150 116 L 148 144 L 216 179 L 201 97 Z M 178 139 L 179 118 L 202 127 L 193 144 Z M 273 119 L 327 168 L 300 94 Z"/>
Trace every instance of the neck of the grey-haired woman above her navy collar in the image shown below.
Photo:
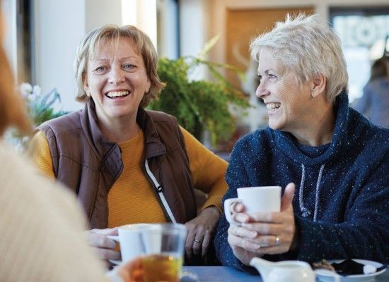
<path fill-rule="evenodd" d="M 301 130 L 291 132 L 302 145 L 317 147 L 330 143 L 335 130 L 334 106 L 330 102 L 322 103 L 313 111 L 313 115 L 300 126 Z"/>

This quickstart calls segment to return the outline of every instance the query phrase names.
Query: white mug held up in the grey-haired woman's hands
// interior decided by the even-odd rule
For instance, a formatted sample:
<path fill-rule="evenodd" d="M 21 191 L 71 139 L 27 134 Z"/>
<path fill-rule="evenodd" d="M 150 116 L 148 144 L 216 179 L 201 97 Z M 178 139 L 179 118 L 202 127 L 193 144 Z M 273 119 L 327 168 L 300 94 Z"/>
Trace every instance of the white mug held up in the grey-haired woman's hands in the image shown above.
<path fill-rule="evenodd" d="M 245 213 L 254 212 L 279 212 L 281 209 L 281 187 L 280 186 L 259 186 L 238 188 L 238 197 L 227 199 L 224 202 L 224 213 L 230 224 L 240 225 L 233 219 L 231 206 L 235 203 L 242 203 L 245 206 Z"/>

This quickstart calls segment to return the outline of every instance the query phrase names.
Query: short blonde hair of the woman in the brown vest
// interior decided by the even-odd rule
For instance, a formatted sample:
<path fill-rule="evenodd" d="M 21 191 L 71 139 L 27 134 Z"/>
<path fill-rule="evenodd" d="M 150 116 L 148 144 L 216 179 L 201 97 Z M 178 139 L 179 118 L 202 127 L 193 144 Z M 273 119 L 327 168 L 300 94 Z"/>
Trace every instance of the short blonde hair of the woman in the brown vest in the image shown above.
<path fill-rule="evenodd" d="M 101 42 L 106 41 L 110 41 L 117 46 L 120 38 L 129 38 L 137 46 L 137 51 L 139 51 L 139 54 L 141 54 L 144 60 L 147 77 L 151 82 L 150 90 L 144 94 L 140 106 L 147 106 L 149 102 L 158 97 L 159 92 L 165 87 L 165 84 L 158 77 L 158 54 L 150 38 L 133 25 L 124 25 L 122 27 L 118 27 L 117 25 L 104 25 L 89 32 L 77 48 L 76 59 L 74 61 L 74 71 L 79 88 L 76 97 L 77 101 L 86 102 L 90 99 L 83 89 L 83 82 L 86 79 L 88 60 L 94 55 L 95 48 Z"/>

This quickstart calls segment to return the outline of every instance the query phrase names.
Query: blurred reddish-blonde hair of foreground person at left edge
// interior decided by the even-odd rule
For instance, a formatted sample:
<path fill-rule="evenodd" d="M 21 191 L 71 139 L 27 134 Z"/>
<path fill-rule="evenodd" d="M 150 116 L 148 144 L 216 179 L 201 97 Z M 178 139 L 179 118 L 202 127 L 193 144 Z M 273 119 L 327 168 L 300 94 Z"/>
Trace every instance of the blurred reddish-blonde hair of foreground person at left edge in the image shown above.
<path fill-rule="evenodd" d="M 31 133 L 32 125 L 23 99 L 16 93 L 11 66 L 2 46 L 0 66 L 0 135 L 3 135 L 8 126 L 15 126 L 21 133 Z"/>

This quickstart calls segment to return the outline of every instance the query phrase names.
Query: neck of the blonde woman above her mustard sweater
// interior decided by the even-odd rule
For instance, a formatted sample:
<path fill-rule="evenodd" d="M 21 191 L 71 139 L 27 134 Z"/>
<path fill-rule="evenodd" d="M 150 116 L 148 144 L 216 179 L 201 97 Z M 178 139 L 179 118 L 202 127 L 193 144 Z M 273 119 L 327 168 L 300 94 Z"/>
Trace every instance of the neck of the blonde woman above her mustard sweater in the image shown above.
<path fill-rule="evenodd" d="M 101 133 L 108 140 L 122 143 L 135 137 L 141 128 L 137 123 L 137 117 L 134 118 L 116 118 L 114 120 L 99 121 Z"/>

